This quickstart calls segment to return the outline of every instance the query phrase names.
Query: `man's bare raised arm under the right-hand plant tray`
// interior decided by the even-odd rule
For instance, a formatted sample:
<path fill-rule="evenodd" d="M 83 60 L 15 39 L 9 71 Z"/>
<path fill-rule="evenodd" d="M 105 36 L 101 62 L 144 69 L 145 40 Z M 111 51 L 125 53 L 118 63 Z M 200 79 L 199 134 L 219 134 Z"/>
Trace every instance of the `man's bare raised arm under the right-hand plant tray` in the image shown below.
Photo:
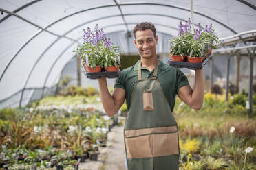
<path fill-rule="evenodd" d="M 201 109 L 204 101 L 204 71 L 203 69 L 195 71 L 195 86 L 182 86 L 178 90 L 178 96 L 185 104 L 193 109 Z"/>

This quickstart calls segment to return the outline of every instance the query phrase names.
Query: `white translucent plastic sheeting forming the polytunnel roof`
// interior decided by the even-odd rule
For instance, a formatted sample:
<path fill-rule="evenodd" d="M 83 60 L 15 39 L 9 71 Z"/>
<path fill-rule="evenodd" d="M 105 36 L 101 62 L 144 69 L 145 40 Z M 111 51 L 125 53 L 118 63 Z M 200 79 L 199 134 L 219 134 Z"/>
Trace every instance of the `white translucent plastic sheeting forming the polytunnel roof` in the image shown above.
<path fill-rule="evenodd" d="M 194 21 L 213 23 L 224 38 L 256 28 L 255 6 L 253 0 L 193 0 Z M 168 53 L 168 38 L 191 16 L 190 8 L 191 0 L 1 0 L 0 103 L 14 93 L 20 98 L 26 88 L 54 86 L 83 29 L 96 23 L 127 53 L 136 50 L 127 31 L 150 21 L 162 37 L 158 52 Z"/>

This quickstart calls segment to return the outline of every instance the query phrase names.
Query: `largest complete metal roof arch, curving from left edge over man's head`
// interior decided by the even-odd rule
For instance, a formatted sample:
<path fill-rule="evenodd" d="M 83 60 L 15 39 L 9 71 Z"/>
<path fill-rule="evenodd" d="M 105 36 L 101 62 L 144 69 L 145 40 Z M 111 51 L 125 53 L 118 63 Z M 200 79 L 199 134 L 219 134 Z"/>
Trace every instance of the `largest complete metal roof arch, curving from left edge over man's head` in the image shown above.
<path fill-rule="evenodd" d="M 189 11 L 188 9 L 186 8 L 180 8 L 180 7 L 177 7 L 177 6 L 173 6 L 173 5 L 166 5 L 166 4 L 161 4 L 161 3 L 122 3 L 122 4 L 119 4 L 120 5 L 160 5 L 160 6 L 165 6 L 165 7 L 169 7 L 169 8 L 177 8 L 177 9 L 180 9 L 180 10 L 185 10 L 185 11 Z M 0 77 L 0 82 L 1 82 L 1 79 L 3 78 L 3 75 L 4 73 L 6 72 L 6 70 L 8 69 L 8 67 L 10 66 L 10 63 L 12 62 L 12 60 L 14 60 L 14 58 L 17 56 L 17 54 L 19 53 L 19 51 L 21 51 L 23 49 L 23 47 L 25 47 L 25 45 L 28 44 L 28 42 L 30 42 L 33 38 L 35 38 L 36 36 L 38 36 L 41 32 L 43 32 L 44 30 L 46 30 L 48 27 L 51 27 L 52 25 L 58 23 L 59 21 L 62 21 L 63 19 L 66 19 L 70 16 L 73 16 L 75 14 L 79 14 L 81 12 L 86 12 L 86 11 L 89 11 L 89 10 L 95 10 L 95 9 L 99 9 L 99 8 L 108 8 L 108 7 L 114 7 L 116 5 L 102 5 L 102 6 L 98 6 L 98 7 L 94 7 L 94 8 L 89 8 L 89 9 L 86 9 L 86 10 L 81 10 L 81 11 L 78 11 L 78 12 L 74 12 L 70 15 L 67 15 L 67 16 L 64 16 L 63 18 L 61 19 L 58 19 L 57 21 L 54 21 L 53 23 L 51 23 L 50 25 L 47 25 L 43 30 L 37 32 L 36 34 L 34 34 L 34 36 L 32 36 L 32 38 L 30 38 L 29 40 L 27 40 L 22 46 L 21 48 L 14 54 L 14 56 L 12 56 L 12 58 L 10 59 L 10 61 L 8 62 L 8 64 L 6 65 L 5 69 L 3 70 L 3 73 Z M 217 23 L 220 23 L 220 25 L 226 27 L 227 29 L 229 29 L 231 32 L 233 32 L 234 34 L 237 34 L 237 32 L 235 32 L 233 29 L 231 29 L 231 27 L 228 27 L 227 25 L 225 25 L 224 23 L 221 23 L 220 21 L 217 21 L 216 19 L 213 19 L 211 18 L 210 16 L 206 16 L 205 14 L 202 14 L 200 12 L 194 12 L 195 14 L 199 14 L 201 16 L 204 16 L 208 19 L 211 19 Z M 242 39 L 242 37 L 239 37 L 240 39 Z"/>

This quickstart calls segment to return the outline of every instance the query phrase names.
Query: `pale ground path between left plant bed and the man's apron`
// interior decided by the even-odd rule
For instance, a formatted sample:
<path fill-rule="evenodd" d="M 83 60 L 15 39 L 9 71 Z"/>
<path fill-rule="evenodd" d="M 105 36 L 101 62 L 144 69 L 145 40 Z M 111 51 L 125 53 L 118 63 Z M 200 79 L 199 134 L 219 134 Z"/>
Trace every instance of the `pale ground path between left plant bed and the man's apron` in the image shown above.
<path fill-rule="evenodd" d="M 120 126 L 114 126 L 108 133 L 107 147 L 100 147 L 98 161 L 86 160 L 79 165 L 79 170 L 124 170 L 125 147 L 123 138 L 123 125 L 125 117 L 118 117 L 122 122 Z"/>

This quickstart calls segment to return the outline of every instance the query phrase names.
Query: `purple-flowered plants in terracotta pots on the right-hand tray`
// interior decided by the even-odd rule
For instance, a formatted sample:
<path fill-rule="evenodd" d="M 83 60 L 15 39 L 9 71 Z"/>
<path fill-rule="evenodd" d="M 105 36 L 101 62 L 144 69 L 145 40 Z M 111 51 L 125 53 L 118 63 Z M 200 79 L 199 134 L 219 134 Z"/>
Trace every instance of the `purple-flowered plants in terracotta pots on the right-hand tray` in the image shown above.
<path fill-rule="evenodd" d="M 197 29 L 191 28 L 191 19 L 185 24 L 180 21 L 178 36 L 169 40 L 171 60 L 183 62 L 187 59 L 188 62 L 198 63 L 211 55 L 212 49 L 216 49 L 218 38 L 212 24 L 203 28 L 198 23 Z"/>

